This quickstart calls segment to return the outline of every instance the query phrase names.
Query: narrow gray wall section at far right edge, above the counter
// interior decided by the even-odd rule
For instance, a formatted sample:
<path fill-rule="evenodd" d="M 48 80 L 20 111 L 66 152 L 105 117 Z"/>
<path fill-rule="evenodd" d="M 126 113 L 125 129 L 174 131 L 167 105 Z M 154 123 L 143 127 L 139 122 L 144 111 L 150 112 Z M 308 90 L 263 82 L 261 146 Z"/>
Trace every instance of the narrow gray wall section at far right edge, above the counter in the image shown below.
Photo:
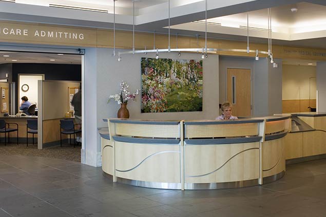
<path fill-rule="evenodd" d="M 317 62 L 316 66 L 316 88 L 318 91 L 318 112 L 326 112 L 326 62 Z"/>

